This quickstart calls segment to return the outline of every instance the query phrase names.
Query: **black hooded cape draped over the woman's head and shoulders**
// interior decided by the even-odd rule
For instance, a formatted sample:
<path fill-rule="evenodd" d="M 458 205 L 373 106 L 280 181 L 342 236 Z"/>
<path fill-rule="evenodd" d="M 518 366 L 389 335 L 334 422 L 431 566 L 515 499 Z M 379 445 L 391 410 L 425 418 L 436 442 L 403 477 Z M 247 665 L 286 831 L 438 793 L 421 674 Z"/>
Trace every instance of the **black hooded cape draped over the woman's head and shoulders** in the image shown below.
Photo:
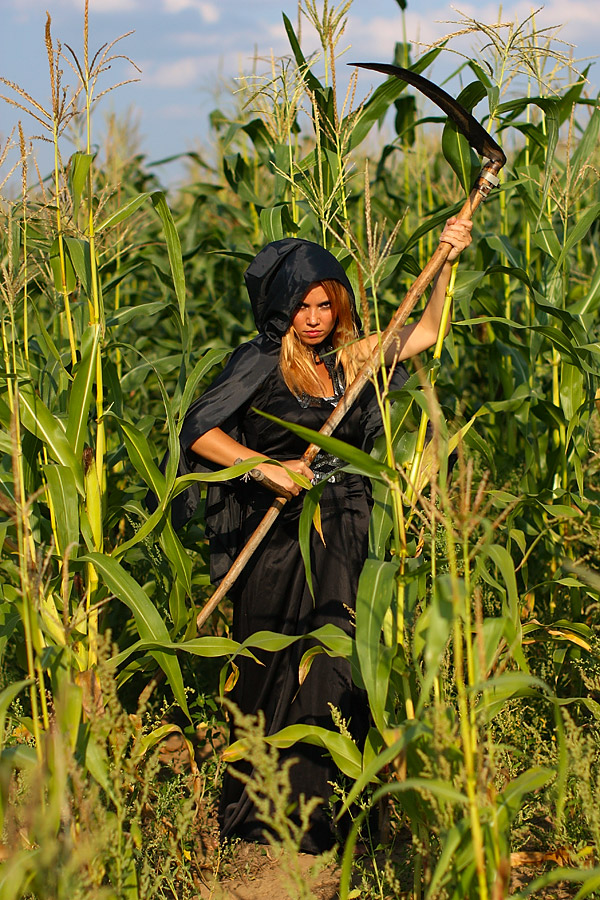
<path fill-rule="evenodd" d="M 267 244 L 244 273 L 258 335 L 238 347 L 213 384 L 191 404 L 179 435 L 180 457 L 177 475 L 201 474 L 221 468 L 201 459 L 189 448 L 211 428 L 222 428 L 240 443 L 245 439 L 243 411 L 256 391 L 272 374 L 279 361 L 281 338 L 290 326 L 293 313 L 308 288 L 318 281 L 333 279 L 344 285 L 350 296 L 352 314 L 360 330 L 354 291 L 341 263 L 323 247 L 299 238 L 284 238 Z M 408 378 L 397 366 L 392 387 L 399 390 Z M 370 450 L 381 429 L 379 408 L 373 388 L 367 385 L 359 399 L 362 412 L 361 448 Z M 253 448 L 255 449 L 255 448 Z M 166 460 L 163 460 L 164 469 Z M 242 549 L 239 525 L 241 509 L 236 485 L 211 484 L 206 492 L 206 535 L 210 540 L 210 576 L 218 584 Z M 200 487 L 193 485 L 179 494 L 171 505 L 176 529 L 195 512 Z M 151 506 L 155 507 L 155 501 Z"/>

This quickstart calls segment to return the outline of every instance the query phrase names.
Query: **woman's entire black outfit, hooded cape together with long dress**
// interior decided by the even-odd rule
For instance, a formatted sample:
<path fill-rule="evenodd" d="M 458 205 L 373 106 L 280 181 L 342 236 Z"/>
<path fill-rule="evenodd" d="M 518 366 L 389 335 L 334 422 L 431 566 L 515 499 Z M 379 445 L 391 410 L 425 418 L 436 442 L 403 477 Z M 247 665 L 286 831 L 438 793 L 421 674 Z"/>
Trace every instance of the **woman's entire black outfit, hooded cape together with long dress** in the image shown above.
<path fill-rule="evenodd" d="M 287 429 L 265 420 L 253 407 L 315 430 L 329 416 L 335 400 L 299 400 L 287 389 L 278 366 L 281 337 L 289 328 L 294 310 L 307 289 L 325 279 L 335 279 L 344 285 L 354 310 L 352 286 L 343 267 L 322 247 L 286 238 L 269 244 L 255 257 L 245 273 L 245 281 L 259 334 L 232 354 L 222 374 L 191 405 L 180 434 L 178 474 L 205 472 L 211 468 L 210 463 L 200 459 L 189 447 L 214 427 L 222 428 L 235 440 L 273 459 L 285 461 L 302 455 L 306 449 L 302 441 Z M 328 359 L 335 366 L 335 357 Z M 394 387 L 399 388 L 406 377 L 405 370 L 398 367 Z M 374 392 L 367 388 L 346 414 L 336 436 L 369 449 L 379 427 Z M 192 488 L 177 498 L 172 511 L 176 526 L 193 512 L 198 496 L 198 489 Z M 269 491 L 253 481 L 236 479 L 209 486 L 206 523 L 213 581 L 227 572 L 272 498 Z M 286 504 L 276 525 L 229 592 L 236 640 L 243 641 L 260 630 L 306 634 L 327 623 L 353 633 L 352 609 L 368 550 L 369 486 L 360 476 L 346 473 L 325 485 L 321 496 L 325 543 L 314 529 L 311 537 L 314 596 L 307 585 L 298 542 L 302 501 L 300 496 Z M 319 654 L 300 686 L 298 668 L 307 647 L 307 642 L 297 642 L 285 651 L 259 654 L 262 665 L 247 659 L 237 661 L 239 676 L 233 701 L 247 714 L 262 710 L 267 733 L 300 723 L 333 729 L 331 704 L 340 711 L 356 742 L 362 745 L 369 728 L 368 706 L 364 692 L 352 682 L 348 661 Z M 331 758 L 315 746 L 299 743 L 281 756 L 296 760 L 290 770 L 295 807 L 292 816 L 297 816 L 302 794 L 323 801 L 311 817 L 311 827 L 302 844 L 308 852 L 321 852 L 336 840 L 327 801 L 332 783 L 340 778 L 339 772 Z M 237 768 L 251 772 L 249 763 L 238 764 Z M 230 773 L 224 779 L 219 818 L 221 834 L 225 837 L 264 840 L 265 829 L 268 830 L 258 818 L 243 784 Z"/>

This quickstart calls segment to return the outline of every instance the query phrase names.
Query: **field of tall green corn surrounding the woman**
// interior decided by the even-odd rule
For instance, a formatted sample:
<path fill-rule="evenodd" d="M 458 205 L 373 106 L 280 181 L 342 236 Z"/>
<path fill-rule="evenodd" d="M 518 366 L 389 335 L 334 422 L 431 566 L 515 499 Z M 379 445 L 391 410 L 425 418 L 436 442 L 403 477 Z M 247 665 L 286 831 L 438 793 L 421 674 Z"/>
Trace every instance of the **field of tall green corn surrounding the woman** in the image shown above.
<path fill-rule="evenodd" d="M 340 900 L 600 895 L 600 111 L 534 18 L 465 17 L 485 49 L 451 83 L 508 163 L 453 272 L 451 335 L 402 391 L 384 374 L 370 455 L 296 428 L 372 484 L 355 637 L 326 626 L 302 661 L 351 660 L 367 742 L 343 722 L 266 738 L 255 722 L 219 743 L 236 659 L 306 637 L 237 644 L 227 603 L 198 633 L 213 590 L 202 511 L 181 532 L 169 516 L 198 479 L 176 477 L 183 416 L 252 334 L 242 272 L 268 241 L 317 241 L 381 333 L 481 168 L 405 82 L 353 70 L 339 95 L 349 7 L 302 0 L 322 48 L 308 59 L 284 16 L 289 56 L 242 79 L 235 113 L 215 110 L 214 163 L 190 161 L 176 196 L 118 127 L 98 149 L 123 51 L 90 49 L 87 2 L 77 54 L 48 16 L 51 108 L 0 73 L 22 117 L 0 147 L 0 183 L 22 185 L 0 196 L 2 900 L 228 896 L 226 851 L 207 837 L 223 765 L 250 755 L 281 806 L 276 750 L 303 740 L 332 755 L 353 811 Z M 398 44 L 391 62 L 435 81 L 442 52 Z M 357 80 L 372 85 L 361 101 Z M 317 485 L 305 549 L 318 503 Z M 165 762 L 171 739 L 183 771 Z M 293 874 L 288 895 L 315 896 Z"/>

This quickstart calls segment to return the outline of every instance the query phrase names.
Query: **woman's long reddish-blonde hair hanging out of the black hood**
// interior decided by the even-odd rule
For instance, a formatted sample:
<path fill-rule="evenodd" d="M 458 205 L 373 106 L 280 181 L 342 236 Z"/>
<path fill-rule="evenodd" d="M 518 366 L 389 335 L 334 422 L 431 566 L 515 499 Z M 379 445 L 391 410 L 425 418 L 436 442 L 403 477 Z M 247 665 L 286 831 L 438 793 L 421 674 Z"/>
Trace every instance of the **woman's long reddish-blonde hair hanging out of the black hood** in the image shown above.
<path fill-rule="evenodd" d="M 355 349 L 358 330 L 352 315 L 350 296 L 344 285 L 332 278 L 316 284 L 321 285 L 331 303 L 335 325 L 329 340 L 336 351 L 336 364 L 342 367 L 346 384 L 350 384 L 362 362 Z M 313 287 L 311 285 L 304 296 Z M 314 397 L 322 395 L 323 385 L 317 375 L 313 352 L 302 343 L 293 325 L 290 325 L 281 339 L 279 367 L 292 394 L 297 397 L 301 394 Z"/>

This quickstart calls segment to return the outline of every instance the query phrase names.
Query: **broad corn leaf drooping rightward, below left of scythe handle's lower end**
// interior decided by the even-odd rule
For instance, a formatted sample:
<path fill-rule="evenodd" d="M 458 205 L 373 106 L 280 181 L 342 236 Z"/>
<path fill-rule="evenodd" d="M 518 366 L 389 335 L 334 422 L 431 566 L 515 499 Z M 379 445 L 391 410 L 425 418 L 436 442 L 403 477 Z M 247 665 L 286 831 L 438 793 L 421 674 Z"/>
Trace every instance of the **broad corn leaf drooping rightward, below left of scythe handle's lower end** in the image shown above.
<path fill-rule="evenodd" d="M 170 643 L 167 626 L 161 619 L 158 610 L 137 581 L 115 559 L 102 553 L 88 553 L 81 559 L 84 562 L 93 563 L 108 589 L 129 607 L 142 640 Z M 152 656 L 167 676 L 176 701 L 186 716 L 190 718 L 183 676 L 177 657 L 158 650 L 152 651 Z"/>

